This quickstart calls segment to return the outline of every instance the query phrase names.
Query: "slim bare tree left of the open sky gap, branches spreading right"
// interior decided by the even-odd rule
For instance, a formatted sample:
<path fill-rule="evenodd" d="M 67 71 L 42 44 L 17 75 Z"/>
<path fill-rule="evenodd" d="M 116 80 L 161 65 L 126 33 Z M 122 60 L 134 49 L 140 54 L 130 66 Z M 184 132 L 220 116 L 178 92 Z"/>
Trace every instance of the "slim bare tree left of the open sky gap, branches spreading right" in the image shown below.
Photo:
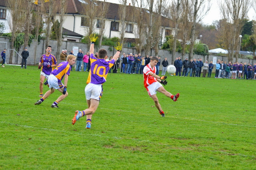
<path fill-rule="evenodd" d="M 191 33 L 190 33 L 190 51 L 189 51 L 189 60 L 193 58 L 193 51 L 194 51 L 194 43 L 195 43 L 195 31 L 196 31 L 196 24 L 200 22 L 204 16 L 210 10 L 210 0 L 191 0 L 192 3 L 192 12 L 193 17 L 191 22 L 193 23 Z"/>

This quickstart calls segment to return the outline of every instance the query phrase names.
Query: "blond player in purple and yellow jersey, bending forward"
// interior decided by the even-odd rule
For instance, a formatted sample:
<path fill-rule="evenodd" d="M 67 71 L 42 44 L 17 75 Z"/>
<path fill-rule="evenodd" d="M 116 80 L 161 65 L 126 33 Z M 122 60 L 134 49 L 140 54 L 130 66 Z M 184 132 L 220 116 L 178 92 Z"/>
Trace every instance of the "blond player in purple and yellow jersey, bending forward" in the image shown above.
<path fill-rule="evenodd" d="M 70 70 L 71 67 L 70 65 L 73 65 L 76 63 L 76 56 L 74 55 L 68 55 L 67 61 L 61 62 L 50 74 L 49 79 L 48 79 L 48 84 L 50 90 L 47 91 L 44 96 L 35 103 L 35 105 L 40 105 L 47 97 L 49 97 L 52 93 L 54 93 L 55 89 L 60 91 L 62 95 L 58 97 L 54 103 L 52 103 L 51 107 L 58 108 L 58 103 L 65 99 L 68 96 L 67 92 L 67 85 L 68 85 L 68 76 L 70 75 Z M 64 84 L 61 82 L 63 77 L 64 79 Z"/>

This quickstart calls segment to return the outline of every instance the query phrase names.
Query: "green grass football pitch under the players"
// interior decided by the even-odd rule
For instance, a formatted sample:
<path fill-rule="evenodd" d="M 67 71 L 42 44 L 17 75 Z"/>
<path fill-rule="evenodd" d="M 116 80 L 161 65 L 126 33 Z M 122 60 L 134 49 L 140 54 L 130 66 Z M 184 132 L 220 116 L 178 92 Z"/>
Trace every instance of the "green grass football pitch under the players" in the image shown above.
<path fill-rule="evenodd" d="M 118 70 L 120 71 L 120 70 Z M 201 75 L 202 76 L 202 75 Z M 161 117 L 138 74 L 108 74 L 86 129 L 88 72 L 41 105 L 40 70 L 0 67 L 0 169 L 256 169 L 256 81 L 168 76 Z M 48 87 L 44 86 L 44 93 Z"/>

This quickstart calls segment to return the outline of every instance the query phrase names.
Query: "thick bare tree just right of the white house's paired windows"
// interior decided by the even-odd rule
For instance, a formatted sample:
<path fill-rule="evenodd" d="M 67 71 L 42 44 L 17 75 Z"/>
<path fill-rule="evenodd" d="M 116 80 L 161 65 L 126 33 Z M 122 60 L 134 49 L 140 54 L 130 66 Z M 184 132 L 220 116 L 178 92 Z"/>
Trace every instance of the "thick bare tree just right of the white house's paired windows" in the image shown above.
<path fill-rule="evenodd" d="M 138 8 L 134 7 L 134 22 L 137 23 L 137 27 L 134 29 L 134 35 L 136 37 L 136 50 L 138 53 L 142 52 L 143 43 L 146 39 L 146 29 L 145 29 L 145 16 L 144 9 L 146 9 L 146 3 L 144 0 L 132 0 L 133 6 L 138 6 Z"/>

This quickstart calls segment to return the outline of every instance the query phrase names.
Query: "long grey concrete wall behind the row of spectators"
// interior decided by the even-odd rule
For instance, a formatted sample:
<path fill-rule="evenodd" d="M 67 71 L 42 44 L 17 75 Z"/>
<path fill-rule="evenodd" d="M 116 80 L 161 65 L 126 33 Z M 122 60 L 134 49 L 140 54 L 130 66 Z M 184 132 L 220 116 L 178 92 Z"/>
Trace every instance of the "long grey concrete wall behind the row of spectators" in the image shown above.
<path fill-rule="evenodd" d="M 6 37 L 0 37 L 0 42 L 7 42 L 7 49 L 10 49 L 10 41 L 9 38 Z M 57 41 L 55 40 L 50 40 L 50 45 L 52 46 L 52 55 L 56 56 L 56 49 L 57 49 Z M 84 53 L 86 53 L 86 51 L 89 51 L 89 48 L 87 47 L 86 44 L 84 43 L 80 43 L 80 42 L 67 42 L 67 41 L 63 41 L 62 42 L 62 47 L 60 48 L 62 49 L 67 49 L 68 53 L 70 53 L 70 51 L 72 50 L 73 46 L 78 47 L 79 49 L 82 49 L 82 51 L 84 51 Z M 6 48 L 6 43 L 0 43 L 0 52 Z M 113 56 L 116 51 L 114 51 L 114 47 L 110 47 L 110 46 L 102 46 L 102 48 L 106 49 L 108 51 L 108 56 Z M 22 46 L 17 52 L 21 55 L 21 52 L 23 51 L 24 47 Z M 95 47 L 95 52 L 98 51 L 98 47 Z M 60 50 L 60 52 L 61 52 Z M 9 63 L 9 56 L 10 56 L 10 51 L 11 50 L 7 50 L 6 51 L 6 63 Z M 44 54 L 45 51 L 45 42 L 44 40 L 41 40 L 41 42 L 38 44 L 37 47 L 37 53 L 36 55 L 34 55 L 35 52 L 35 42 L 33 41 L 32 44 L 30 45 L 30 47 L 28 47 L 28 51 L 29 51 L 29 57 L 27 60 L 27 64 L 28 65 L 33 65 L 34 61 L 36 61 L 36 64 L 39 63 L 39 59 L 41 57 L 42 54 Z M 122 49 L 122 53 L 137 53 L 136 49 L 134 48 L 123 48 Z M 141 54 L 142 56 L 145 56 L 145 52 L 142 52 Z M 154 55 L 154 49 L 151 50 L 150 54 L 148 55 Z M 165 57 L 167 57 L 167 60 L 169 62 L 169 64 L 172 63 L 172 54 L 170 53 L 170 51 L 168 50 L 159 50 L 158 52 L 158 56 L 161 57 L 161 59 L 163 60 Z M 180 53 L 176 53 L 176 57 L 181 56 Z M 184 60 L 186 57 L 188 57 L 188 54 L 186 54 L 182 60 Z M 217 60 L 223 60 L 223 61 L 227 61 L 228 62 L 228 57 L 221 57 L 221 56 L 216 56 L 216 55 L 209 55 L 209 56 L 203 56 L 203 55 L 194 55 L 193 58 L 202 58 L 202 61 L 206 61 L 208 60 L 209 62 L 212 61 L 213 57 L 217 57 Z M 56 57 L 57 58 L 57 57 Z M 2 60 L 2 58 L 1 58 Z M 19 57 L 18 55 L 15 55 L 15 57 L 13 57 L 12 59 L 12 63 L 14 64 L 21 64 L 22 58 Z M 233 59 L 233 61 L 236 61 L 236 58 Z M 1 61 L 2 62 L 2 61 Z M 238 59 L 238 62 L 246 62 L 246 63 L 256 63 L 256 60 L 252 60 L 252 59 Z M 160 70 L 162 69 L 162 65 L 160 65 Z"/>

